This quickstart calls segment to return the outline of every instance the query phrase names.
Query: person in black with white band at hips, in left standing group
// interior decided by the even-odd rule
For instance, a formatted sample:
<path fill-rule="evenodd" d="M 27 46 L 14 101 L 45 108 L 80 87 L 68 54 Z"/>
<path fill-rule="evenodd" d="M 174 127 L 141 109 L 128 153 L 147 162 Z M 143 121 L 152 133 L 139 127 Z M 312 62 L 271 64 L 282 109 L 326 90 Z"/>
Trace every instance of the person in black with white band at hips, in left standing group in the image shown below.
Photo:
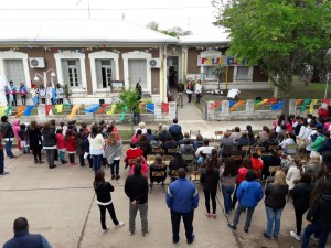
<path fill-rule="evenodd" d="M 42 131 L 43 136 L 43 149 L 46 151 L 46 158 L 49 162 L 49 168 L 54 169 L 56 165 L 54 164 L 55 152 L 56 152 L 56 134 L 51 128 L 51 122 L 46 121 Z"/>

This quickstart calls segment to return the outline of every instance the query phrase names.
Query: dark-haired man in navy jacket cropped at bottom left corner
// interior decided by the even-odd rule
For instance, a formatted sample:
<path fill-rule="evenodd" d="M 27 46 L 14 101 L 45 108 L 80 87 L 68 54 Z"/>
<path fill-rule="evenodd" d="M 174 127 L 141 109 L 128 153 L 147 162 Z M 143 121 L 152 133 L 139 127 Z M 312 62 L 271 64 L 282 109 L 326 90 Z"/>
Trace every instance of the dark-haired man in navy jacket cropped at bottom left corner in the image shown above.
<path fill-rule="evenodd" d="M 40 234 L 31 235 L 29 234 L 28 219 L 24 217 L 19 217 L 13 223 L 14 237 L 3 245 L 3 248 L 51 248 L 51 245 L 46 238 Z"/>

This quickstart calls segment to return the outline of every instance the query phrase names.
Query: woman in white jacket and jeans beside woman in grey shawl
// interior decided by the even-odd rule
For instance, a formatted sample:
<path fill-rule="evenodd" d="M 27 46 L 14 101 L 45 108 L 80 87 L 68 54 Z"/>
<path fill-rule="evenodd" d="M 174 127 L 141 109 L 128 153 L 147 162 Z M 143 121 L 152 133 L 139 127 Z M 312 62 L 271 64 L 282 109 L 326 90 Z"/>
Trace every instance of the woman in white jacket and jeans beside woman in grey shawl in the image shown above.
<path fill-rule="evenodd" d="M 103 154 L 105 140 L 102 133 L 98 131 L 98 126 L 93 125 L 90 129 L 90 134 L 88 136 L 89 141 L 89 153 L 93 160 L 93 169 L 95 172 L 102 169 Z"/>

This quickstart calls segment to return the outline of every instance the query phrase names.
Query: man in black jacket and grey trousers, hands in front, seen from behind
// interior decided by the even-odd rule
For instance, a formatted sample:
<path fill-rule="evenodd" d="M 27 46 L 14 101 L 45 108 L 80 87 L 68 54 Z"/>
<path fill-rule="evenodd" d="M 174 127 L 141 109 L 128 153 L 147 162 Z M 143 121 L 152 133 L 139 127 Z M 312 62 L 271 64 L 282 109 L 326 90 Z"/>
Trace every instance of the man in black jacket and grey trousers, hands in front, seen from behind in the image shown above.
<path fill-rule="evenodd" d="M 141 231 L 142 236 L 147 236 L 149 233 L 147 211 L 148 211 L 148 182 L 145 176 L 141 175 L 141 164 L 135 165 L 134 175 L 127 177 L 125 183 L 126 195 L 130 200 L 129 207 L 129 235 L 135 234 L 136 215 L 139 209 L 141 218 Z"/>

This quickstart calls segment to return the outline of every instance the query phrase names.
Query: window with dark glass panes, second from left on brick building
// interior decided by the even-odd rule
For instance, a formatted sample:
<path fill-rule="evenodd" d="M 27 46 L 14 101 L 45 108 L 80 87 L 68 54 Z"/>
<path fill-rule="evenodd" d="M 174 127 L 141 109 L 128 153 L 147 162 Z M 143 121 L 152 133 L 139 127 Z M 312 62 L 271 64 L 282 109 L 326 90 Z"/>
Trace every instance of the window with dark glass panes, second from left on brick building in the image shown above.
<path fill-rule="evenodd" d="M 63 60 L 64 79 L 71 88 L 82 88 L 79 60 Z"/>

